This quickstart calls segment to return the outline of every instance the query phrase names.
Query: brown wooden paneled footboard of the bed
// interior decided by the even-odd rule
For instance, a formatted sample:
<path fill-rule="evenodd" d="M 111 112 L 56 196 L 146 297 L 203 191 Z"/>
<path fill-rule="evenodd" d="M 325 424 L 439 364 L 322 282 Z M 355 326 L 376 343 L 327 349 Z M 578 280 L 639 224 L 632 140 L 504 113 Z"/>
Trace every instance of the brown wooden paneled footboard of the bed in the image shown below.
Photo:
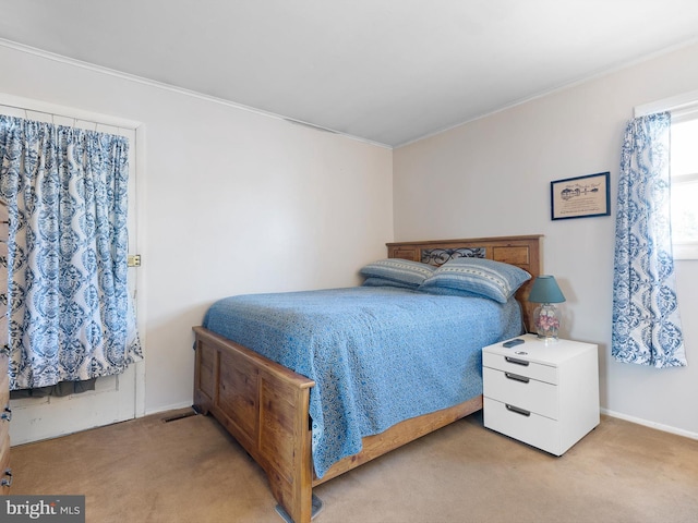
<path fill-rule="evenodd" d="M 310 522 L 308 411 L 315 382 L 207 329 L 194 332 L 194 406 L 210 412 L 260 464 L 292 520 Z"/>

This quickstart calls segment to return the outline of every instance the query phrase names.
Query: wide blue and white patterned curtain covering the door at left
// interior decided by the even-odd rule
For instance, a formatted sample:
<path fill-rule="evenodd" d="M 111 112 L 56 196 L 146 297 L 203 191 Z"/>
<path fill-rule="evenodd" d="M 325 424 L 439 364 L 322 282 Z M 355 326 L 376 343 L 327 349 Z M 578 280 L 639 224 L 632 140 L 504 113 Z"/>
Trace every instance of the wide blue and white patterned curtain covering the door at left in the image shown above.
<path fill-rule="evenodd" d="M 13 390 L 142 357 L 127 287 L 128 151 L 122 136 L 0 115 Z"/>

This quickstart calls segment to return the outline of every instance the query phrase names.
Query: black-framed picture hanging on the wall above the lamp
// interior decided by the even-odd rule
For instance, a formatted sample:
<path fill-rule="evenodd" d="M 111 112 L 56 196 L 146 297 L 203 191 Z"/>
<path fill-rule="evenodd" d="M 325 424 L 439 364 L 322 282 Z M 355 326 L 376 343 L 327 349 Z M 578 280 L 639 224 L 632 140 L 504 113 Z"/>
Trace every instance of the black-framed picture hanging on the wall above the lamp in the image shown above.
<path fill-rule="evenodd" d="M 611 214 L 607 172 L 550 182 L 551 218 L 589 218 Z"/>

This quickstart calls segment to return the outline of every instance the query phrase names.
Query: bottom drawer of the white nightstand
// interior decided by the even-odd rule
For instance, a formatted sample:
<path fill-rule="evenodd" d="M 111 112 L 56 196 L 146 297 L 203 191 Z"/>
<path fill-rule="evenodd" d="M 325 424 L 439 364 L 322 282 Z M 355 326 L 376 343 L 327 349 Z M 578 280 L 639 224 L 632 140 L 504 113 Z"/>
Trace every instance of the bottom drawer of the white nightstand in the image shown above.
<path fill-rule="evenodd" d="M 559 426 L 555 419 L 519 412 L 491 398 L 484 399 L 484 426 L 506 436 L 559 455 Z"/>

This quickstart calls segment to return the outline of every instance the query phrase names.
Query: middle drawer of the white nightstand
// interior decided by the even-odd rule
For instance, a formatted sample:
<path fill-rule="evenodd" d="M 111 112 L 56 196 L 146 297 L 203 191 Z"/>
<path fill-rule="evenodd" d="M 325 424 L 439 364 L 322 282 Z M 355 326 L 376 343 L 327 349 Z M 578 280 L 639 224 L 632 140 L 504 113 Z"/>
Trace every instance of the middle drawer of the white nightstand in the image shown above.
<path fill-rule="evenodd" d="M 483 368 L 484 396 L 557 419 L 557 386 L 515 373 Z"/>

